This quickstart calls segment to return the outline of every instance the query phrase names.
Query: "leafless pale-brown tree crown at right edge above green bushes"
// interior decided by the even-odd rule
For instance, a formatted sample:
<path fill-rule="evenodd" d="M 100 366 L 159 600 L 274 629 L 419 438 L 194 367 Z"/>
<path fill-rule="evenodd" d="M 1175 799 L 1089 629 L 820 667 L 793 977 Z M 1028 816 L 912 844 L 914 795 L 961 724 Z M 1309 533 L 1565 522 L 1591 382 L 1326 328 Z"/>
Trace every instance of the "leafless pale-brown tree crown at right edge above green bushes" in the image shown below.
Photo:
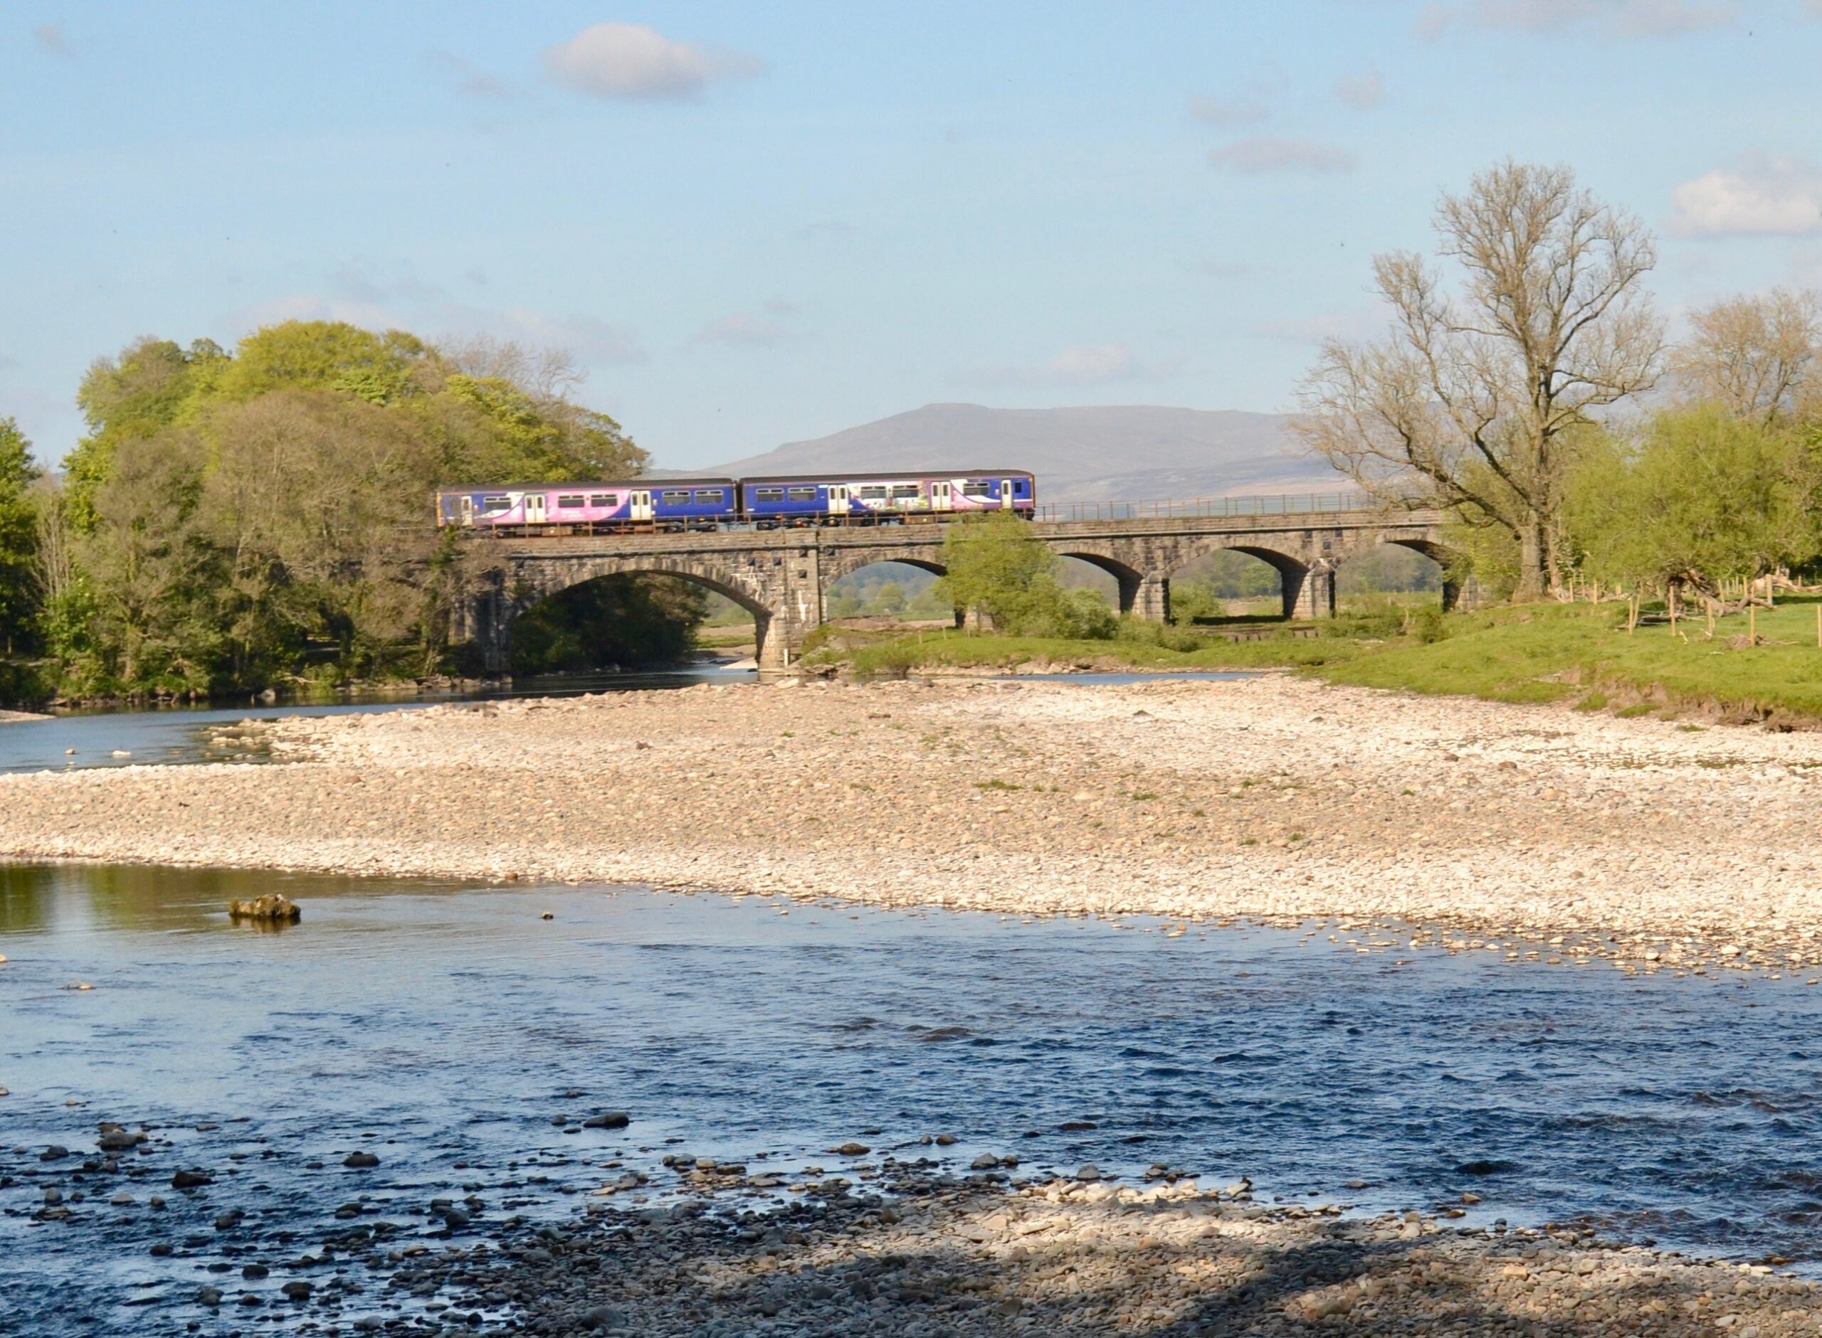
<path fill-rule="evenodd" d="M 1771 424 L 1822 391 L 1822 299 L 1775 288 L 1733 297 L 1689 317 L 1691 337 L 1671 368 L 1698 399 Z"/>

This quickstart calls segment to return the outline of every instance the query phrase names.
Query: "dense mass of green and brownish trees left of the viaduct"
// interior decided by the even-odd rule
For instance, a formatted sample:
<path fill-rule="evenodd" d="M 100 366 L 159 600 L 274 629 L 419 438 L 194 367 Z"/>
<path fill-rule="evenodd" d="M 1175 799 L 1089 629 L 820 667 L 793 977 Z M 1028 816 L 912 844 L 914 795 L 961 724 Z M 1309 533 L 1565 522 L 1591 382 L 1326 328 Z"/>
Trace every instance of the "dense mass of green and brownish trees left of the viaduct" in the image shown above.
<path fill-rule="evenodd" d="M 437 533 L 430 492 L 645 464 L 618 422 L 570 399 L 576 382 L 559 355 L 514 344 L 301 320 L 231 351 L 140 339 L 95 362 L 78 393 L 87 435 L 60 479 L 0 426 L 9 695 L 204 695 L 450 668 L 450 613 L 481 559 Z M 640 599 L 685 639 L 700 619 L 700 601 Z M 561 619 L 545 634 L 565 664 L 619 657 Z"/>

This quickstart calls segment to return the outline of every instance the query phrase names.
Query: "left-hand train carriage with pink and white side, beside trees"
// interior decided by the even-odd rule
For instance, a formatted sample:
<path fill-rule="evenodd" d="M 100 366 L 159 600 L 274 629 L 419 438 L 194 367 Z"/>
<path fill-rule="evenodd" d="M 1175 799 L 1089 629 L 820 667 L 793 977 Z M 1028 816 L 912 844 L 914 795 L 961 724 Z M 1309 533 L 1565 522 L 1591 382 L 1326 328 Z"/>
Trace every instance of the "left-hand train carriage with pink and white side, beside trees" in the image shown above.
<path fill-rule="evenodd" d="M 445 488 L 437 524 L 497 535 L 714 530 L 738 519 L 734 479 L 627 479 L 621 482 Z"/>

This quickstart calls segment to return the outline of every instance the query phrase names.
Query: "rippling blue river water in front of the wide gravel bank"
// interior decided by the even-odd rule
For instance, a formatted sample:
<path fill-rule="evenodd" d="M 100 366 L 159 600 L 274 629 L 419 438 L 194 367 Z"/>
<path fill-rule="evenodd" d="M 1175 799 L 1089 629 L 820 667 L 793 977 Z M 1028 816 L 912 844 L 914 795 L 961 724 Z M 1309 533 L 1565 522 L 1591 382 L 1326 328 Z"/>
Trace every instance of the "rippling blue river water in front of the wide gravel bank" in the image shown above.
<path fill-rule="evenodd" d="M 262 890 L 301 901 L 302 923 L 230 923 L 228 899 Z M 1017 1174 L 1244 1174 L 1266 1201 L 1472 1192 L 1469 1223 L 1818 1256 L 1822 990 L 1374 941 L 0 868 L 0 1331 L 290 1331 L 279 1305 L 191 1298 L 213 1280 L 275 1300 L 288 1274 L 242 1282 L 242 1265 L 321 1249 L 361 1196 L 357 1221 L 390 1223 L 375 1240 L 392 1247 L 443 1227 L 434 1198 L 472 1196 L 463 1236 L 485 1238 L 508 1214 L 572 1214 L 629 1171 L 656 1192 L 665 1152 L 794 1176 L 840 1169 L 827 1149 L 847 1140 L 957 1171 L 1013 1152 Z M 576 1129 L 609 1109 L 630 1127 Z M 104 1120 L 151 1141 L 107 1171 Z M 958 1141 L 916 1145 L 935 1134 Z M 381 1165 L 344 1167 L 355 1150 Z M 173 1191 L 177 1169 L 213 1183 Z M 36 1220 L 47 1189 L 69 1218 Z M 133 1201 L 111 1205 L 120 1192 Z M 231 1209 L 244 1221 L 217 1229 Z"/>

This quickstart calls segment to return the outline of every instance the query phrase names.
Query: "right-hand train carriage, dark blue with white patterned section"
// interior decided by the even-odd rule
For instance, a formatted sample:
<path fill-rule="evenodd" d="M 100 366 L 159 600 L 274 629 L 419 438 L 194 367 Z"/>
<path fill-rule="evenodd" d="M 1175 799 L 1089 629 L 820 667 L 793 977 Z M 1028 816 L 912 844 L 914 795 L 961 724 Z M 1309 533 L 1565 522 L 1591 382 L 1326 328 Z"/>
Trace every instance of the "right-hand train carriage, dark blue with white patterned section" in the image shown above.
<path fill-rule="evenodd" d="M 742 479 L 740 508 L 760 528 L 904 524 L 1002 510 L 1029 517 L 1037 510 L 1037 481 L 1022 470 L 774 475 Z"/>

